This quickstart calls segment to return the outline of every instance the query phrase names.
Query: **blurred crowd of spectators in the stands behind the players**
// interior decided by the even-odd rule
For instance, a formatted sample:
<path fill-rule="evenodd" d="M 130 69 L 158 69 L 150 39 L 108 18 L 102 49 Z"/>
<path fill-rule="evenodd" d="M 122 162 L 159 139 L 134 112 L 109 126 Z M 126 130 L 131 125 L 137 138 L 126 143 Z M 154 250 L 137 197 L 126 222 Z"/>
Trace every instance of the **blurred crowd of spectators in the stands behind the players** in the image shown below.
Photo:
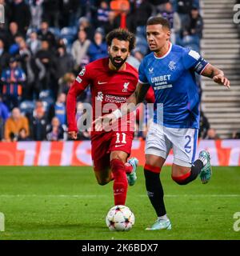
<path fill-rule="evenodd" d="M 170 21 L 171 41 L 200 50 L 203 21 L 198 0 L 0 0 L 0 140 L 67 140 L 66 94 L 83 66 L 106 57 L 105 36 L 114 28 L 134 32 L 136 48 L 128 62 L 138 68 L 149 53 L 146 21 Z M 201 96 L 200 79 L 198 78 Z M 78 98 L 90 103 L 90 90 Z M 140 116 L 141 118 L 141 116 Z M 210 138 L 201 117 L 199 137 Z M 144 138 L 138 132 L 136 137 Z M 217 134 L 211 134 L 218 138 Z M 82 132 L 79 140 L 89 139 Z"/>

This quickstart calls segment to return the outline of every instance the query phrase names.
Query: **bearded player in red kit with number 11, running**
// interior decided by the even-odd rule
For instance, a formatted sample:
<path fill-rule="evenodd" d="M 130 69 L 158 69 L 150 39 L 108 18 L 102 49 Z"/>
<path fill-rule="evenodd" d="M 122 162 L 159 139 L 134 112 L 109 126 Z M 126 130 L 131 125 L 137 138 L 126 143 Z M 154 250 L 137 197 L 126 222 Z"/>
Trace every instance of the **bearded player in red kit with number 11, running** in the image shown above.
<path fill-rule="evenodd" d="M 135 46 L 135 36 L 129 31 L 116 29 L 106 36 L 109 58 L 101 58 L 90 64 L 78 74 L 67 94 L 66 110 L 70 138 L 76 139 L 78 128 L 75 121 L 76 98 L 90 85 L 93 120 L 106 114 L 106 106 L 119 108 L 134 93 L 138 83 L 138 70 L 126 62 Z M 154 92 L 148 94 L 154 102 Z M 108 105 L 110 104 L 110 105 Z M 113 105 L 114 104 L 114 105 Z M 114 110 L 114 109 L 112 109 Z M 97 111 L 97 112 L 95 112 Z M 105 112 L 105 113 L 103 113 Z M 121 119 L 120 119 L 121 121 Z M 134 138 L 133 118 L 128 118 L 110 131 L 91 130 L 91 155 L 94 174 L 98 184 L 105 185 L 114 180 L 114 204 L 125 205 L 128 184 L 136 181 L 137 158 L 130 155 Z"/>

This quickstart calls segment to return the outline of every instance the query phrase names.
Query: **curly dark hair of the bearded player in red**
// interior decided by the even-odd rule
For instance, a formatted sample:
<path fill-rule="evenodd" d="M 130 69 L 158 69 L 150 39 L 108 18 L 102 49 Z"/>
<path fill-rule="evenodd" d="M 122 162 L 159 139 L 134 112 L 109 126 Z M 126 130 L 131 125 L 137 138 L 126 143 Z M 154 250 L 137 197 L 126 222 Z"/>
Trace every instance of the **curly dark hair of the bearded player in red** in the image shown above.
<path fill-rule="evenodd" d="M 112 44 L 112 41 L 114 38 L 117 38 L 118 40 L 121 40 L 121 41 L 128 41 L 130 51 L 135 48 L 136 37 L 130 31 L 123 30 L 121 28 L 110 31 L 106 35 L 106 43 L 108 46 L 110 46 Z"/>

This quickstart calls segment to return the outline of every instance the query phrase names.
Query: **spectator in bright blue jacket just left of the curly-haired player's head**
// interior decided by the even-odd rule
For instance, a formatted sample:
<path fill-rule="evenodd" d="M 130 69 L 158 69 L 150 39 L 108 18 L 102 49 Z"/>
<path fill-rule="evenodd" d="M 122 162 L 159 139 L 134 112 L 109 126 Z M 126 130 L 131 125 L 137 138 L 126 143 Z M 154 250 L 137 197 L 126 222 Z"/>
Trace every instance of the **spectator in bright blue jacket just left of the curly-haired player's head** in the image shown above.
<path fill-rule="evenodd" d="M 94 34 L 94 42 L 90 43 L 87 54 L 90 57 L 90 62 L 107 56 L 106 42 L 103 42 L 102 33 L 98 32 L 98 30 Z"/>

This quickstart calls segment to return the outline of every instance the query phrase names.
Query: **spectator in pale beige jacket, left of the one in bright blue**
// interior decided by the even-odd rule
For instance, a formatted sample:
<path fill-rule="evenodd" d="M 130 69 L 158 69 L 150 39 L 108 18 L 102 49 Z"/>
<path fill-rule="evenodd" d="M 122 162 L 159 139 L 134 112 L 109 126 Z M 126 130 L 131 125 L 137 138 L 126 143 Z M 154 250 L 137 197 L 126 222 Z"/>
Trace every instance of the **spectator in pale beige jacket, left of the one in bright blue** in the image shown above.
<path fill-rule="evenodd" d="M 74 70 L 80 71 L 83 66 L 89 63 L 87 51 L 90 46 L 90 40 L 86 38 L 86 31 L 78 31 L 78 39 L 74 41 L 71 49 L 71 54 L 74 57 Z"/>

